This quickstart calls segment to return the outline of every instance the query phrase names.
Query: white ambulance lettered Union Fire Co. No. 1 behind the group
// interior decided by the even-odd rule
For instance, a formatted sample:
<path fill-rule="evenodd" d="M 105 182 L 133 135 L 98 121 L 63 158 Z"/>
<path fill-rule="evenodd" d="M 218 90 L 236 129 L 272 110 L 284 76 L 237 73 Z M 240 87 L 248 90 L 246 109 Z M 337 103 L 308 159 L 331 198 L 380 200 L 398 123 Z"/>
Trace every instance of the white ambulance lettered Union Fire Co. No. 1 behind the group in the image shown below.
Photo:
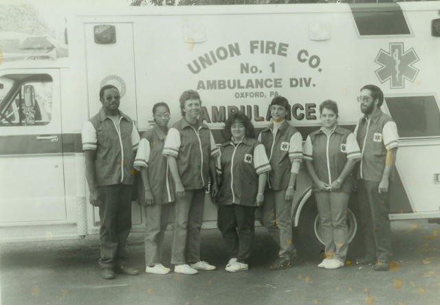
<path fill-rule="evenodd" d="M 57 240 L 98 233 L 89 204 L 81 128 L 114 84 L 120 109 L 140 133 L 152 107 L 201 95 L 201 118 L 217 144 L 232 111 L 256 131 L 270 124 L 277 95 L 305 139 L 320 126 L 318 106 L 338 102 L 339 124 L 354 129 L 364 84 L 382 88 L 382 111 L 399 131 L 391 220 L 440 219 L 440 1 L 373 4 L 131 7 L 69 18 L 69 58 L 0 65 L 0 240 Z M 360 249 L 355 196 L 351 249 Z M 216 227 L 207 194 L 203 227 Z M 133 231 L 142 231 L 133 201 Z M 311 181 L 301 168 L 292 208 L 303 256 L 323 249 Z M 355 247 L 356 246 L 356 247 Z"/>

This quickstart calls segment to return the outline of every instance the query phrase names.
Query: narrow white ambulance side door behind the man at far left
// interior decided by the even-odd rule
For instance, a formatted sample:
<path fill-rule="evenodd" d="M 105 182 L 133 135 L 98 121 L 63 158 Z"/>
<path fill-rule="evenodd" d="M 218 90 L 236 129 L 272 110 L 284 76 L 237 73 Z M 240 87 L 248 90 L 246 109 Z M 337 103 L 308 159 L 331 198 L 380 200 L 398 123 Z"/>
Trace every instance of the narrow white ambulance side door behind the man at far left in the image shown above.
<path fill-rule="evenodd" d="M 106 84 L 113 84 L 120 91 L 120 110 L 137 122 L 133 23 L 85 22 L 84 32 L 89 117 L 98 113 L 101 107 L 100 88 Z M 88 208 L 93 207 L 89 205 Z M 96 229 L 100 225 L 98 208 L 95 207 L 94 211 L 88 214 L 92 217 L 89 222 Z M 133 201 L 134 225 L 142 223 L 141 216 L 139 205 Z"/>

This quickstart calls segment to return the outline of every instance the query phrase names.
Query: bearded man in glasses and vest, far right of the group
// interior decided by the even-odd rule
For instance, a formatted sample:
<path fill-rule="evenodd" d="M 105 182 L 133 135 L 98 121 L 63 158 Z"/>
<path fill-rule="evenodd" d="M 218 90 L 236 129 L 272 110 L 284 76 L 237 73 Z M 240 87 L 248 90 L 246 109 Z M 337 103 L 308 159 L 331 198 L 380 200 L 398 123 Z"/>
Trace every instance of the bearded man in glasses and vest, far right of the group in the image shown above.
<path fill-rule="evenodd" d="M 362 87 L 358 102 L 364 116 L 360 118 L 354 134 L 362 152 L 358 195 L 366 253 L 356 263 L 375 263 L 374 270 L 388 271 L 391 259 L 388 194 L 393 181 L 399 135 L 395 122 L 380 109 L 384 93 L 379 87 L 373 84 Z"/>

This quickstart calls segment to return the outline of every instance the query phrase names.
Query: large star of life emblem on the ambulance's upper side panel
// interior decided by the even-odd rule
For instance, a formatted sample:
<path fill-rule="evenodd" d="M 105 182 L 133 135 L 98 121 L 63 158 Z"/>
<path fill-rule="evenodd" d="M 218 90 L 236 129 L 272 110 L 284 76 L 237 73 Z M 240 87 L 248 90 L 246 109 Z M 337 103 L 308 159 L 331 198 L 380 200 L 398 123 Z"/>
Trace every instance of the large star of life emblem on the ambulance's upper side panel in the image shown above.
<path fill-rule="evenodd" d="M 390 80 L 391 89 L 401 89 L 405 87 L 405 79 L 414 82 L 419 69 L 412 67 L 419 61 L 419 56 L 413 48 L 404 51 L 404 43 L 390 43 L 390 52 L 380 49 L 375 63 L 381 65 L 375 71 L 380 82 Z"/>

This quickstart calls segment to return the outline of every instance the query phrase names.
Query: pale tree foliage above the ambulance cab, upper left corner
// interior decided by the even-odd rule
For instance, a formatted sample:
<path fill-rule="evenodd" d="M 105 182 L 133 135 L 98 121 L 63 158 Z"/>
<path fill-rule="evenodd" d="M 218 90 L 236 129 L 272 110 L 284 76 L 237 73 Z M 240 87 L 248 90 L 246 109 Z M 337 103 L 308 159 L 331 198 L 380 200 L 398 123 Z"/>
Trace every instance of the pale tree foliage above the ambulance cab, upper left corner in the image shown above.
<path fill-rule="evenodd" d="M 43 36 L 53 34 L 29 4 L 0 4 L 0 32 L 11 31 Z"/>

